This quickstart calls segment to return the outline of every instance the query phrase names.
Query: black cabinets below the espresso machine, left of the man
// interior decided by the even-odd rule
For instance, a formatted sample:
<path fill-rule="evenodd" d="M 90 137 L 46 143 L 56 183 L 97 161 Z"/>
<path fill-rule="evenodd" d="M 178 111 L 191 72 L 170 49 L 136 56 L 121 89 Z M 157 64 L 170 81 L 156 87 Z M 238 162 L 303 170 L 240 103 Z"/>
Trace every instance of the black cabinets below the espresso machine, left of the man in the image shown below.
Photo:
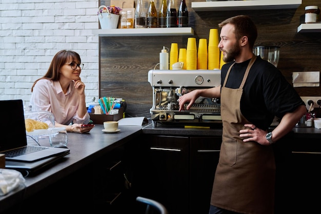
<path fill-rule="evenodd" d="M 170 213 L 208 214 L 221 137 L 144 134 L 137 193 Z"/>

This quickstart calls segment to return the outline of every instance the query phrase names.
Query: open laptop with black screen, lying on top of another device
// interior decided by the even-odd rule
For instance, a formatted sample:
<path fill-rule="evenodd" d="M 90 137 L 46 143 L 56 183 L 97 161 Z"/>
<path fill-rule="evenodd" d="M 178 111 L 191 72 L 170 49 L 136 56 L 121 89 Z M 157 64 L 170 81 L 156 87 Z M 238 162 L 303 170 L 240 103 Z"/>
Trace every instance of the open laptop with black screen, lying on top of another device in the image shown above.
<path fill-rule="evenodd" d="M 6 155 L 7 161 L 34 162 L 54 156 L 68 154 L 68 148 L 54 148 L 37 145 L 27 145 L 27 133 L 25 125 L 25 115 L 22 100 L 0 101 L 0 112 L 2 113 L 0 122 L 0 153 Z M 31 148 L 32 152 L 29 152 Z M 13 151 L 18 151 L 16 155 Z M 23 153 L 20 151 L 23 150 Z"/>

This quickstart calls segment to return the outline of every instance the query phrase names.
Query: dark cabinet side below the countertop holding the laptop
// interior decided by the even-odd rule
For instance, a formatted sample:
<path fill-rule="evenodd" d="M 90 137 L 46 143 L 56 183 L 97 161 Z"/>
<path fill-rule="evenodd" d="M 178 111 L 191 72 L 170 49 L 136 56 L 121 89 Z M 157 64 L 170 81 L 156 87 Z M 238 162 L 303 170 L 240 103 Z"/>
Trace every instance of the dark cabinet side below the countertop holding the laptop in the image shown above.
<path fill-rule="evenodd" d="M 2 214 L 28 210 L 39 214 L 44 210 L 52 213 L 127 214 L 133 210 L 144 213 L 146 207 L 136 202 L 137 196 L 130 188 L 130 159 L 135 153 L 135 141 L 116 147 Z"/>

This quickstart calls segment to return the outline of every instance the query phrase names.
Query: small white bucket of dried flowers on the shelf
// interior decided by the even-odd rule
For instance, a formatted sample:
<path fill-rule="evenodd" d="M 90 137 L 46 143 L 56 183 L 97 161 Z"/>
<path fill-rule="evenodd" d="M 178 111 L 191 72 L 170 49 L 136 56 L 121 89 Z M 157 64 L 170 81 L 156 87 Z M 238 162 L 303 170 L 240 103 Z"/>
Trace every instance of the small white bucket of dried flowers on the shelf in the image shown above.
<path fill-rule="evenodd" d="M 119 20 L 119 12 L 122 9 L 114 5 L 107 7 L 102 5 L 98 8 L 98 18 L 102 29 L 116 29 Z"/>

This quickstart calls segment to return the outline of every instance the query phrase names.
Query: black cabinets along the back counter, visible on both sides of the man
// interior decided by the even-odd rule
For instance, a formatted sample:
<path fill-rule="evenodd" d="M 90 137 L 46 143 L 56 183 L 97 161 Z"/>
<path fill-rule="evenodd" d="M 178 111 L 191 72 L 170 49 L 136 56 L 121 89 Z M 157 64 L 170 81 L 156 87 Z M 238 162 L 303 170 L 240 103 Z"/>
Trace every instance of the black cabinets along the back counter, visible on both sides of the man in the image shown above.
<path fill-rule="evenodd" d="M 222 133 L 219 134 L 218 130 L 205 133 L 206 130 L 177 128 L 144 130 L 144 140 L 139 144 L 144 165 L 137 170 L 137 179 L 141 181 L 137 184 L 138 192 L 163 203 L 170 213 L 208 214 Z M 298 210 L 315 213 L 318 210 L 319 198 L 314 196 L 321 191 L 318 173 L 320 138 L 319 130 L 294 129 L 294 132 L 273 144 L 276 162 L 275 213 L 297 213 Z"/>

